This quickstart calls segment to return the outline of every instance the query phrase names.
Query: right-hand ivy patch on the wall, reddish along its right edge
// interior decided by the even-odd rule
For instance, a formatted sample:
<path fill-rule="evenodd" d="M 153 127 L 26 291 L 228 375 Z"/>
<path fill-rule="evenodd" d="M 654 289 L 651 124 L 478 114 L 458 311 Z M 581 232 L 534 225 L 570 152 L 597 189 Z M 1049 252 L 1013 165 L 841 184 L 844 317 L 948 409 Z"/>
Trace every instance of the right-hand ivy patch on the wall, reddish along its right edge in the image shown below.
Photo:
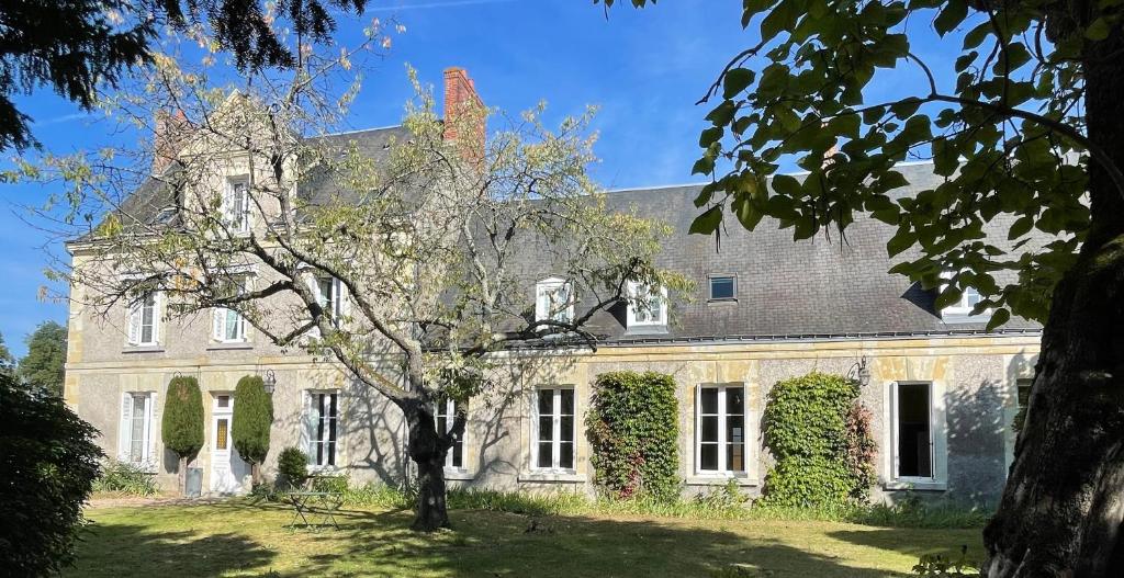
<path fill-rule="evenodd" d="M 763 434 L 777 461 L 765 475 L 764 503 L 807 507 L 867 498 L 876 446 L 870 412 L 858 398 L 854 380 L 815 371 L 772 387 Z"/>

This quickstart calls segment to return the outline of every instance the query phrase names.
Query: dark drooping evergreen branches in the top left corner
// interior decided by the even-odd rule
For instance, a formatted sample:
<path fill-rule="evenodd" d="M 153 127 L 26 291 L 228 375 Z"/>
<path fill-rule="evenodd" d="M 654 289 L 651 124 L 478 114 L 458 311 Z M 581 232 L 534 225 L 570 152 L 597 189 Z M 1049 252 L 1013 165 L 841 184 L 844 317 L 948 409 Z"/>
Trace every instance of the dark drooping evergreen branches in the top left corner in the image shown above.
<path fill-rule="evenodd" d="M 293 67 L 297 43 L 332 40 L 332 10 L 362 13 L 366 0 L 15 0 L 0 4 L 0 149 L 35 144 L 12 98 L 49 85 L 82 109 L 99 88 L 153 62 L 164 31 L 214 40 L 242 71 Z"/>

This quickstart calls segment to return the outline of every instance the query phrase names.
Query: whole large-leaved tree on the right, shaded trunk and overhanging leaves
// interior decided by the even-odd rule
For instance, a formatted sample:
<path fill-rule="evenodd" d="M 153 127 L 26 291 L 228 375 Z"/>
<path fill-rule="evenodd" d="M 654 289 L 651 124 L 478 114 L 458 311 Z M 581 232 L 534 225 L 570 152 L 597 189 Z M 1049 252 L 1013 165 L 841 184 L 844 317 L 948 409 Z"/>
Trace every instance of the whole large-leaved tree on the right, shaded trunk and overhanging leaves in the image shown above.
<path fill-rule="evenodd" d="M 710 126 L 695 172 L 713 183 L 692 230 L 714 233 L 732 214 L 799 240 L 870 215 L 897 228 L 891 270 L 941 287 L 939 306 L 972 286 L 991 327 L 1013 313 L 1044 321 L 986 570 L 1124 575 L 1120 2 L 742 6 L 752 39 L 700 101 Z M 915 48 L 934 33 L 957 58 Z M 887 71 L 919 82 L 885 90 Z M 905 184 L 895 164 L 917 158 L 939 182 L 890 194 Z M 787 163 L 807 176 L 778 175 Z M 1034 229 L 1052 240 L 1031 242 Z"/>

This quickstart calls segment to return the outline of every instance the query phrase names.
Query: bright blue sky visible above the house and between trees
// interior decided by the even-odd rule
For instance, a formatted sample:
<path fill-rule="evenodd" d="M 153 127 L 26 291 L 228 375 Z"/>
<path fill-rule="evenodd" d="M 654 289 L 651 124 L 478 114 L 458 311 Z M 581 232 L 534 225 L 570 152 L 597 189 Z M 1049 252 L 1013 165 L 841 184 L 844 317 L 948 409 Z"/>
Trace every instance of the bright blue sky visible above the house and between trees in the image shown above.
<path fill-rule="evenodd" d="M 754 40 L 740 26 L 741 2 L 660 2 L 633 10 L 620 2 L 606 19 L 589 0 L 371 0 L 366 17 L 406 27 L 389 56 L 375 61 L 353 107 L 354 128 L 397 123 L 410 95 L 409 63 L 439 84 L 447 66 L 462 66 L 483 100 L 519 111 L 546 100 L 553 118 L 598 104 L 595 128 L 602 162 L 593 168 L 609 189 L 697 182 L 690 174 L 707 109 L 695 105 L 725 62 Z M 366 19 L 364 17 L 364 21 Z M 342 34 L 357 24 L 342 22 Z M 959 48 L 959 42 L 955 43 Z M 940 53 L 940 44 L 923 48 Z M 935 54 L 934 54 L 935 55 Z M 895 73 L 898 75 L 898 73 Z M 898 75 L 887 90 L 916 79 Z M 20 100 L 36 119 L 45 149 L 70 153 L 110 141 L 73 104 L 42 90 Z M 39 322 L 64 322 L 66 306 L 37 300 L 47 237 L 24 222 L 26 204 L 48 191 L 0 185 L 0 333 L 17 355 Z M 46 250 L 63 255 L 57 244 Z"/>

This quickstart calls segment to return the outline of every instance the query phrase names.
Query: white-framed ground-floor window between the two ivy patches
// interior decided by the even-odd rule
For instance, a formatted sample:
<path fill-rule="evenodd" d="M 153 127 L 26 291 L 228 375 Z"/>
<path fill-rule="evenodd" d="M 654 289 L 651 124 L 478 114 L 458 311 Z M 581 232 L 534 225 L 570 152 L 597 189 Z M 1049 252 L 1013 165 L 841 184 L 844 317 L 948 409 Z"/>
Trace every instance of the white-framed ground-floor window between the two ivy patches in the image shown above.
<path fill-rule="evenodd" d="M 695 402 L 695 469 L 701 475 L 745 475 L 750 431 L 745 386 L 700 385 Z"/>

